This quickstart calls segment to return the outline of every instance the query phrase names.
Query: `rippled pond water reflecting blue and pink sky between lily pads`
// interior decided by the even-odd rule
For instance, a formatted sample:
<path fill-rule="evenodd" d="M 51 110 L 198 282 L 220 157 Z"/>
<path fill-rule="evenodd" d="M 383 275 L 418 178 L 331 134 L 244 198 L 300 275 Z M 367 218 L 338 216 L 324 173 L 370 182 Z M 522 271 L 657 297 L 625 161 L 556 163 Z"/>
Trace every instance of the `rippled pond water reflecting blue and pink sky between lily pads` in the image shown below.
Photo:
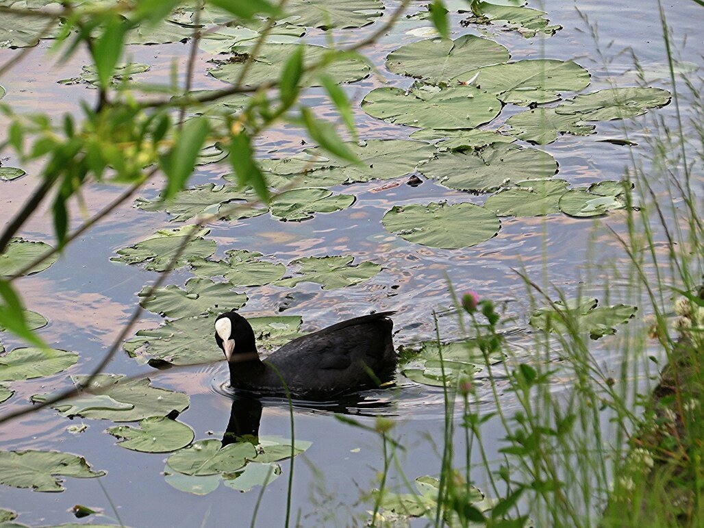
<path fill-rule="evenodd" d="M 386 13 L 397 5 L 394 1 L 385 4 Z M 422 2 L 415 2 L 409 13 L 420 11 L 422 5 Z M 635 86 L 639 81 L 634 69 L 633 56 L 636 56 L 650 86 L 670 89 L 657 2 L 546 1 L 531 2 L 529 6 L 547 11 L 551 23 L 562 25 L 562 30 L 551 37 L 539 35 L 526 39 L 498 26 L 485 27 L 485 31 L 477 26 L 460 27 L 459 20 L 465 15 L 455 13 L 452 16 L 453 38 L 460 34 L 485 35 L 503 44 L 510 51 L 512 60 L 572 59 L 589 70 L 591 84 L 586 89 L 589 92 L 614 85 Z M 674 28 L 677 56 L 682 61 L 700 64 L 700 6 L 693 1 L 681 0 L 667 2 L 663 7 L 668 23 Z M 580 13 L 598 28 L 598 42 Z M 362 29 L 335 31 L 336 42 L 357 42 L 371 34 L 383 20 L 382 17 Z M 359 103 L 376 87 L 410 86 L 410 77 L 395 75 L 384 68 L 384 58 L 399 46 L 419 40 L 424 34 L 422 28 L 429 29 L 427 20 L 402 20 L 391 34 L 365 52 L 379 68 L 380 77 L 372 76 L 346 85 L 346 92 L 353 100 L 361 138 L 406 139 L 415 130 L 372 118 L 361 110 Z M 307 42 L 315 44 L 324 44 L 325 38 L 320 30 L 309 30 L 305 37 Z M 56 80 L 77 75 L 81 65 L 87 63 L 87 57 L 79 53 L 67 63 L 54 66 L 55 58 L 46 51 L 47 48 L 46 41 L 42 42 L 20 67 L 0 79 L 0 84 L 7 90 L 3 102 L 11 104 L 15 111 L 42 111 L 51 115 L 78 113 L 79 102 L 82 99 L 92 101 L 94 92 L 85 85 L 63 86 L 56 84 Z M 156 82 L 167 80 L 172 61 L 183 63 L 188 51 L 188 44 L 128 48 L 132 60 L 151 65 L 150 72 L 140 78 Z M 4 63 L 18 52 L 16 49 L 0 49 L 0 62 Z M 207 58 L 207 54 L 201 54 L 196 61 L 195 89 L 224 86 L 206 75 Z M 321 118 L 336 118 L 337 114 L 322 89 L 309 89 L 303 101 Z M 522 108 L 517 106 L 506 106 L 491 128 L 520 111 Z M 567 180 L 573 187 L 601 180 L 618 180 L 624 169 L 631 165 L 631 156 L 647 164 L 645 160 L 650 155 L 648 137 L 653 133 L 655 114 L 675 127 L 675 109 L 671 104 L 639 118 L 601 121 L 596 123 L 598 133 L 595 135 L 564 135 L 539 148 L 551 153 L 558 161 L 556 177 Z M 605 137 L 622 138 L 624 130 L 639 146 L 629 149 L 597 141 Z M 292 126 L 271 130 L 262 138 L 259 153 L 262 157 L 289 156 L 301 149 L 301 139 L 305 137 L 303 130 Z M 16 163 L 12 157 L 3 158 L 3 165 L 17 166 Z M 39 167 L 24 168 L 29 174 L 22 179 L 0 182 L 0 202 L 6 218 L 11 218 L 37 184 L 34 174 Z M 222 183 L 220 176 L 226 172 L 230 172 L 227 163 L 203 165 L 189 184 Z M 652 182 L 658 192 L 663 189 L 663 182 L 659 179 L 660 176 L 655 175 Z M 274 285 L 238 288 L 237 291 L 246 291 L 249 296 L 243 313 L 277 315 L 283 303 L 288 303 L 290 308 L 283 315 L 301 315 L 303 330 L 310 331 L 368 313 L 370 309 L 396 310 L 396 345 L 413 346 L 434 339 L 433 311 L 446 313 L 447 308 L 453 306 L 448 288 L 448 284 L 452 284 L 456 291 L 472 289 L 482 296 L 507 301 L 508 315 L 516 318 L 516 332 L 509 339 L 517 347 L 522 346 L 529 355 L 532 337 L 526 327 L 530 303 L 515 269 L 523 270 L 541 284 L 546 284 L 547 279 L 568 294 L 575 294 L 584 286 L 604 302 L 633 301 L 629 298 L 627 279 L 608 276 L 611 270 L 627 268 L 627 257 L 605 229 L 608 224 L 617 232 L 625 232 L 625 213 L 615 211 L 597 220 L 570 218 L 562 214 L 502 218 L 498 236 L 482 244 L 465 249 L 437 249 L 394 236 L 382 226 L 382 215 L 396 205 L 440 200 L 459 203 L 467 201 L 468 195 L 442 187 L 425 177 L 418 187 L 406 185 L 406 180 L 408 175 L 389 180 L 401 184 L 388 189 L 379 189 L 388 183 L 381 180 L 334 187 L 335 191 L 356 196 L 356 203 L 345 210 L 318 214 L 304 222 L 280 222 L 270 215 L 262 215 L 209 225 L 208 238 L 218 242 L 218 256 L 224 256 L 228 249 L 248 249 L 271 256 L 277 262 L 289 263 L 304 256 L 349 254 L 355 257 L 355 262 L 372 260 L 382 265 L 382 271 L 372 279 L 342 289 L 322 290 L 319 284 L 310 282 L 298 284 L 295 289 Z M 163 181 L 153 180 L 141 195 L 151 199 L 157 196 L 162 186 Z M 99 210 L 121 190 L 108 185 L 86 189 L 87 213 Z M 482 204 L 486 194 L 469 198 L 473 203 Z M 80 213 L 75 216 L 75 225 L 79 225 Z M 27 308 L 42 313 L 49 320 L 49 325 L 40 331 L 42 337 L 55 348 L 79 352 L 80 361 L 67 372 L 53 377 L 13 384 L 15 394 L 2 403 L 0 410 L 3 413 L 26 406 L 33 394 L 68 386 L 67 374 L 89 372 L 101 360 L 122 325 L 130 318 L 137 303 L 137 292 L 157 276 L 156 272 L 111 262 L 110 259 L 116 250 L 130 246 L 156 230 L 181 225 L 170 223 L 169 218 L 166 213 L 148 213 L 127 203 L 106 222 L 101 222 L 75 241 L 49 270 L 18 281 Z M 51 218 L 44 213 L 35 215 L 21 234 L 27 239 L 51 243 Z M 189 277 L 188 268 L 181 268 L 172 272 L 167 283 L 182 286 Z M 604 288 L 608 283 L 612 288 L 606 298 Z M 291 295 L 292 298 L 287 298 Z M 135 330 L 156 327 L 160 322 L 160 316 L 145 312 Z M 448 313 L 439 318 L 439 333 L 447 340 L 461 337 L 455 315 Z M 130 337 L 133 334 L 130 333 Z M 8 351 L 20 346 L 9 334 L 3 334 L 2 340 Z M 608 339 L 595 346 L 599 350 L 599 360 L 608 365 L 616 353 L 615 346 L 610 345 Z M 555 357 L 558 355 L 556 351 Z M 180 421 L 194 429 L 196 439 L 222 439 L 231 411 L 237 409 L 238 400 L 233 400 L 227 389 L 225 362 L 156 371 L 138 365 L 127 354 L 120 353 L 108 371 L 127 375 L 149 372 L 156 386 L 188 394 L 189 408 L 180 415 Z M 500 377 L 501 373 L 496 372 L 496 375 Z M 485 387 L 479 386 L 477 393 L 479 410 L 490 412 L 494 403 Z M 556 390 L 560 388 L 556 387 Z M 289 438 L 286 401 L 263 398 L 261 405 L 260 434 Z M 510 400 L 505 402 L 507 408 L 511 405 Z M 368 517 L 365 511 L 372 509 L 371 502 L 361 498 L 378 486 L 377 472 L 382 468 L 379 437 L 337 420 L 335 413 L 349 413 L 362 424 L 372 427 L 375 415 L 389 417 L 394 422 L 394 438 L 406 448 L 398 453 L 399 467 L 403 468 L 406 478 L 413 481 L 425 474 L 438 474 L 444 431 L 441 389 L 417 384 L 399 375 L 394 389 L 368 391 L 329 405 L 295 402 L 296 439 L 312 442 L 306 453 L 294 459 L 292 511 L 293 519 L 301 526 L 360 525 Z M 69 425 L 80 424 L 88 428 L 80 434 L 67 432 Z M 258 505 L 258 487 L 240 493 L 221 484 L 205 497 L 179 491 L 165 482 L 163 476 L 168 455 L 138 453 L 115 446 L 115 438 L 104 432 L 109 425 L 111 422 L 80 417 L 69 421 L 49 408 L 0 425 L 1 449 L 54 449 L 77 453 L 89 460 L 96 470 L 107 472 L 101 479 L 67 479 L 66 489 L 61 494 L 0 486 L 0 507 L 20 513 L 18 522 L 31 526 L 75 521 L 69 511 L 75 504 L 101 508 L 108 517 L 114 515 L 113 504 L 125 526 L 249 524 Z M 458 442 L 463 441 L 463 432 L 457 434 Z M 484 432 L 490 460 L 498 458 L 501 436 L 503 429 L 490 421 Z M 281 477 L 267 486 L 260 499 L 257 513 L 260 526 L 279 526 L 284 521 L 291 467 L 287 460 L 280 464 Z M 486 480 L 482 467 L 477 468 L 472 478 L 482 486 Z M 391 470 L 389 482 L 391 486 L 403 489 L 398 467 Z"/>

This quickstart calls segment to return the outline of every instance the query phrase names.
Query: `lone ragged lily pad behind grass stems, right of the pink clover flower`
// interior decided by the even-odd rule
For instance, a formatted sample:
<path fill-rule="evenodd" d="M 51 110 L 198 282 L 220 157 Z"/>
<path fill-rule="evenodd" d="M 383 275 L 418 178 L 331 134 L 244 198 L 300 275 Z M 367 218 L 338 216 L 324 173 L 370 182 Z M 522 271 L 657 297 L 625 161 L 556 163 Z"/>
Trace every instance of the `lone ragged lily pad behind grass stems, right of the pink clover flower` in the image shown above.
<path fill-rule="evenodd" d="M 530 318 L 534 328 L 567 335 L 574 332 L 589 332 L 591 339 L 616 333 L 617 325 L 635 317 L 638 308 L 627 304 L 599 306 L 596 298 L 571 299 L 567 303 L 555 301 L 557 310 L 551 306 L 536 310 Z M 559 310 L 559 311 L 558 311 Z M 565 321 L 569 321 L 569 325 Z"/>

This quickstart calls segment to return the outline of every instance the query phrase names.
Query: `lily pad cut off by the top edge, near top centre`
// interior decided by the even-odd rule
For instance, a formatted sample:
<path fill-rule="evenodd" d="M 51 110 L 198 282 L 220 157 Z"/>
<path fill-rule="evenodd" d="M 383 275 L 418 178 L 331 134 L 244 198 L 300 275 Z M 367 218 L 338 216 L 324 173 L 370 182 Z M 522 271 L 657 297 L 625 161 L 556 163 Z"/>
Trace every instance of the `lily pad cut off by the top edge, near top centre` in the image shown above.
<path fill-rule="evenodd" d="M 291 0 L 284 11 L 286 20 L 304 27 L 363 27 L 382 15 L 380 0 Z"/>

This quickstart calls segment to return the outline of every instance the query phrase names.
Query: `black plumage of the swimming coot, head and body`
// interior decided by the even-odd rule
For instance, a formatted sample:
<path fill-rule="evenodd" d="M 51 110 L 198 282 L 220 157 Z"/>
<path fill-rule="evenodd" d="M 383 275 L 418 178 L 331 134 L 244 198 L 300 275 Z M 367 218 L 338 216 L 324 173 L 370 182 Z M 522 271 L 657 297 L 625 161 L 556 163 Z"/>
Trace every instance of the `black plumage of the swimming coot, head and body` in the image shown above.
<path fill-rule="evenodd" d="M 389 381 L 396 370 L 396 352 L 391 340 L 394 312 L 373 313 L 337 323 L 298 337 L 260 360 L 249 322 L 234 311 L 228 318 L 230 355 L 218 332 L 215 341 L 225 351 L 230 367 L 230 384 L 265 394 L 286 394 L 282 378 L 292 396 L 325 399 L 370 389 Z M 278 374 L 277 374 L 278 372 Z M 279 377 L 280 375 L 280 377 Z"/>

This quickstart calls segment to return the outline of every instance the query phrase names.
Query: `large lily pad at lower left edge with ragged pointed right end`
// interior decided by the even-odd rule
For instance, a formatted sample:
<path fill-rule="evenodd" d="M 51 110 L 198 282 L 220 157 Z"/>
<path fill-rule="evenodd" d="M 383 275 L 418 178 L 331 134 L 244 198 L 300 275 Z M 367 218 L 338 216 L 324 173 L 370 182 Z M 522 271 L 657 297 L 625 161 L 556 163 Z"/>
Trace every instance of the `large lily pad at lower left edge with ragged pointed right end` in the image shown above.
<path fill-rule="evenodd" d="M 82 456 L 59 451 L 0 451 L 0 483 L 33 491 L 63 491 L 61 477 L 102 477 Z"/>

